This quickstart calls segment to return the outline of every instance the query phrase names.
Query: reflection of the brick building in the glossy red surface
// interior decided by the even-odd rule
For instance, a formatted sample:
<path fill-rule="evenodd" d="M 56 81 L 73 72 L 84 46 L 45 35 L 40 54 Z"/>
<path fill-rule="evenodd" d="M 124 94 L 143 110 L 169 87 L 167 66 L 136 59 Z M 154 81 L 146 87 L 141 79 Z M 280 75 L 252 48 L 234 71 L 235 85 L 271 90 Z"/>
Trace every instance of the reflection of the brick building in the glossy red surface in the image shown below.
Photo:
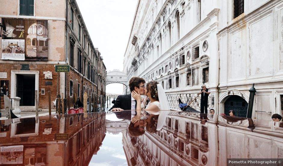
<path fill-rule="evenodd" d="M 23 145 L 25 165 L 88 165 L 105 137 L 105 113 L 60 117 L 39 117 L 38 123 L 34 117 L 14 119 L 8 129 L 1 130 L 0 146 Z M 68 133 L 69 139 L 56 141 L 55 133 Z"/>

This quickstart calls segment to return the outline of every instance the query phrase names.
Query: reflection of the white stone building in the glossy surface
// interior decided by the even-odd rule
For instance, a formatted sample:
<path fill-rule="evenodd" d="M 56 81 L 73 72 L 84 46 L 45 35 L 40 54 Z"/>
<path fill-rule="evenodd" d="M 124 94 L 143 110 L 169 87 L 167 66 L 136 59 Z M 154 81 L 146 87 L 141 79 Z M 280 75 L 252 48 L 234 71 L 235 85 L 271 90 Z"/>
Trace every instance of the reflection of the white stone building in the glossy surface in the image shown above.
<path fill-rule="evenodd" d="M 256 126 L 251 131 L 248 124 L 243 124 L 244 120 L 232 123 L 217 115 L 208 118 L 201 125 L 194 114 L 171 112 L 157 133 L 131 137 L 124 131 L 123 148 L 128 165 L 222 166 L 227 164 L 227 158 L 283 157 L 283 128 L 279 123 L 274 126 L 266 121 L 271 129 Z"/>

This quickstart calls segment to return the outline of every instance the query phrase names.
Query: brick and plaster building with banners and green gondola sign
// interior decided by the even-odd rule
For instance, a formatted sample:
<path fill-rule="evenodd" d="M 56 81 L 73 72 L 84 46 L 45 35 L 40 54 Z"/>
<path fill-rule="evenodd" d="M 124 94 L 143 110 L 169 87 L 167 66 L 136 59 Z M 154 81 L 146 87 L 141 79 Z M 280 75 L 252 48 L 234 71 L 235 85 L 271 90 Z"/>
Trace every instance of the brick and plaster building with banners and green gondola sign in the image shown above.
<path fill-rule="evenodd" d="M 0 86 L 8 83 L 2 95 L 21 97 L 23 110 L 35 108 L 35 90 L 41 109 L 48 108 L 48 91 L 52 101 L 58 91 L 70 107 L 75 94 L 82 101 L 84 92 L 95 105 L 105 101 L 106 67 L 75 0 L 5 0 L 0 18 Z M 55 65 L 70 65 L 70 72 L 56 73 Z"/>

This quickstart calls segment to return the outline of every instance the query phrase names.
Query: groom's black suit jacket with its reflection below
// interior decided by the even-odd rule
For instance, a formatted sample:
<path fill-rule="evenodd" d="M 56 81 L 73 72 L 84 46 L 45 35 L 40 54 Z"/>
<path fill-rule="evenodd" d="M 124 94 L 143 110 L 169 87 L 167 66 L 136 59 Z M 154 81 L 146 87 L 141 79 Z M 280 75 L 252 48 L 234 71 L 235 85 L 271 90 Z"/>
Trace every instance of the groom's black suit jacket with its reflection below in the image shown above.
<path fill-rule="evenodd" d="M 132 105 L 131 99 L 132 99 L 131 94 L 119 95 L 114 105 L 109 109 L 109 111 L 112 110 L 113 108 L 122 108 L 123 110 L 131 110 L 131 105 Z M 121 112 L 116 112 L 115 114 L 119 119 L 131 120 L 131 111 L 121 111 Z"/>

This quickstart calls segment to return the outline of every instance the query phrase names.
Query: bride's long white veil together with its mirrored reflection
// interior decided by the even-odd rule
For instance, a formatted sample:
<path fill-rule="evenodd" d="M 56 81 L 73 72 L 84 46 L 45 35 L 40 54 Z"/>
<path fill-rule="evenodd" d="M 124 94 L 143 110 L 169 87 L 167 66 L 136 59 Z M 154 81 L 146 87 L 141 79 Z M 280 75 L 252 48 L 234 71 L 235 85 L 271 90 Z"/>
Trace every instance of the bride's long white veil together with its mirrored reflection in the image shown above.
<path fill-rule="evenodd" d="M 162 85 L 160 84 L 157 84 L 157 95 L 158 95 L 158 99 L 160 103 L 160 110 L 161 110 L 158 116 L 157 128 L 156 128 L 156 130 L 159 131 L 164 126 L 170 109 L 169 109 L 167 97 L 165 95 L 165 91 Z"/>

